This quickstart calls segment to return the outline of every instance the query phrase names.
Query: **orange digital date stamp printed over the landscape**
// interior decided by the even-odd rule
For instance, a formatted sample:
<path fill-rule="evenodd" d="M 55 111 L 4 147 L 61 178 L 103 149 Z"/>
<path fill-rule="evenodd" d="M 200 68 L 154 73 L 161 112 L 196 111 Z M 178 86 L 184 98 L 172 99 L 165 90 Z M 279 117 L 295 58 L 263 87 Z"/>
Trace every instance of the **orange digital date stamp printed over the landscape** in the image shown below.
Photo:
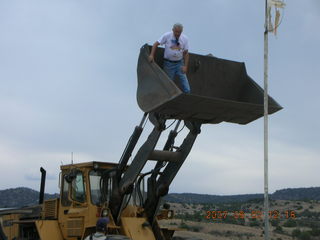
<path fill-rule="evenodd" d="M 264 217 L 264 212 L 252 210 L 249 212 L 244 211 L 206 211 L 206 219 L 225 219 L 227 217 L 232 217 L 234 219 L 245 219 L 245 218 L 251 218 L 251 219 L 262 219 Z M 295 219 L 296 218 L 296 212 L 293 210 L 287 210 L 280 212 L 278 210 L 272 210 L 268 213 L 269 219 Z"/>

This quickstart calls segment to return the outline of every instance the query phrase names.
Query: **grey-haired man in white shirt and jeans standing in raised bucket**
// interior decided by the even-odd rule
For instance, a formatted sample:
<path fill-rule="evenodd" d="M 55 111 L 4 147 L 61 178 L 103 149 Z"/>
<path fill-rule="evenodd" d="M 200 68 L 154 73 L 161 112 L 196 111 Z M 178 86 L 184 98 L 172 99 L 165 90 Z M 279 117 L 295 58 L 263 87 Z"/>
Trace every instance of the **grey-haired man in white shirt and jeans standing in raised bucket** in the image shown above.
<path fill-rule="evenodd" d="M 182 34 L 182 31 L 182 24 L 174 24 L 172 32 L 163 34 L 160 39 L 153 44 L 149 61 L 154 61 L 157 47 L 164 44 L 163 70 L 172 80 L 174 80 L 175 75 L 177 75 L 180 79 L 182 91 L 184 93 L 190 93 L 190 86 L 186 76 L 189 63 L 189 43 L 187 36 Z"/>

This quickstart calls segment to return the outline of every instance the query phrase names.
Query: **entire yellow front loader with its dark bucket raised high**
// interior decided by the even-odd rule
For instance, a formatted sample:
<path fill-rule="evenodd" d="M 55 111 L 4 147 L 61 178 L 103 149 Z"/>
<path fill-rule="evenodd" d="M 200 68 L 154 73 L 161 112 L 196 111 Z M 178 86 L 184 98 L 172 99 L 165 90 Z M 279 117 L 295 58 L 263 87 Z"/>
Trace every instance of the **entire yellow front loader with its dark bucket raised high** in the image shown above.
<path fill-rule="evenodd" d="M 43 201 L 44 175 L 39 205 L 0 212 L 0 240 L 83 240 L 95 231 L 98 218 L 108 216 L 109 239 L 171 240 L 173 229 L 158 219 L 171 218 L 161 206 L 170 184 L 186 160 L 202 124 L 247 124 L 263 116 L 263 90 L 247 75 L 244 63 L 190 54 L 188 79 L 191 93 L 183 93 L 162 70 L 163 49 L 148 61 L 150 46 L 141 48 L 138 60 L 137 101 L 144 112 L 118 164 L 87 162 L 61 166 L 60 197 Z M 281 106 L 269 97 L 269 113 Z M 155 149 L 173 122 L 167 141 Z M 146 121 L 153 125 L 148 138 L 129 159 Z M 176 136 L 188 133 L 180 145 Z M 154 168 L 142 173 L 147 161 Z"/>

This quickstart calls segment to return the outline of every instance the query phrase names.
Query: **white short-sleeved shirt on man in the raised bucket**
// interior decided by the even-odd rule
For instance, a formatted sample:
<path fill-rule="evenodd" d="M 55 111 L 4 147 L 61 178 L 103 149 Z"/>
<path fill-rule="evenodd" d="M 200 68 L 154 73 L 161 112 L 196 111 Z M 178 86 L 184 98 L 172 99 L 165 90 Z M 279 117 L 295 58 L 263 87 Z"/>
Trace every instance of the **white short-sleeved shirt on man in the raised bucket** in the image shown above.
<path fill-rule="evenodd" d="M 171 61 L 179 61 L 183 58 L 183 52 L 189 50 L 188 38 L 186 35 L 182 34 L 179 37 L 179 45 L 176 43 L 176 37 L 173 32 L 167 32 L 163 34 L 158 43 L 165 46 L 164 48 L 164 58 Z"/>

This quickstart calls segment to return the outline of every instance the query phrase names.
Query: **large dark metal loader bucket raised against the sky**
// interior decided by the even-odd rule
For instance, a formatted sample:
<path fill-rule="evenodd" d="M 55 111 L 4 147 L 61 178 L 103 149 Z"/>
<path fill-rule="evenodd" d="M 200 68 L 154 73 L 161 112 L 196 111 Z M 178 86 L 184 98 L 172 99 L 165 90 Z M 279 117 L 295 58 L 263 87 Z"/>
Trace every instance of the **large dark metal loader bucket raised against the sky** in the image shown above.
<path fill-rule="evenodd" d="M 247 124 L 263 116 L 263 89 L 246 72 L 244 63 L 189 53 L 190 94 L 183 93 L 179 81 L 163 71 L 163 48 L 155 62 L 148 56 L 151 46 L 142 46 L 138 60 L 137 101 L 144 112 L 157 112 L 167 119 L 201 123 Z M 282 107 L 268 98 L 268 112 Z"/>

